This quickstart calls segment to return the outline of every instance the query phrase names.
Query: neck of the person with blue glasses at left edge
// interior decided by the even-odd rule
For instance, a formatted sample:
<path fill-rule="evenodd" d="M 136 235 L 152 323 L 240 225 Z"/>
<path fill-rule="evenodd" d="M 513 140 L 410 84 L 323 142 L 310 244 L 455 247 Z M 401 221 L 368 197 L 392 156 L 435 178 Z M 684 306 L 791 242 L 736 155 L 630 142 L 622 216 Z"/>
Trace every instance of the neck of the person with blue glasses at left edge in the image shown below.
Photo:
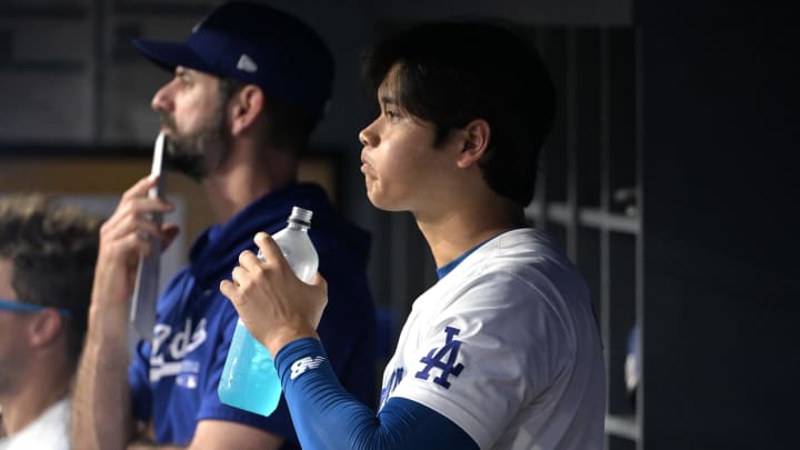
<path fill-rule="evenodd" d="M 37 367 L 20 372 L 23 382 L 20 389 L 0 398 L 2 404 L 2 427 L 6 433 L 13 436 L 23 430 L 50 407 L 69 394 L 72 382 L 72 368 L 53 367 L 58 359 L 39 359 Z M 58 366 L 58 364 L 56 364 Z"/>

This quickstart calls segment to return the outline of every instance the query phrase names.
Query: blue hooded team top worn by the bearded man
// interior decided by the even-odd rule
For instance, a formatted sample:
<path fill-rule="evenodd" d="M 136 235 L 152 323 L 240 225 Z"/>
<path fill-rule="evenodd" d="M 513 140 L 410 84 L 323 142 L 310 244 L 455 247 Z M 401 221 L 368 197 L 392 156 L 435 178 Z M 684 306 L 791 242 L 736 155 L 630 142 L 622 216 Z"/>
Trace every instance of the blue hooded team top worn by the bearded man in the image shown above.
<path fill-rule="evenodd" d="M 189 266 L 159 298 L 152 344 L 140 342 L 129 368 L 133 416 L 153 421 L 158 443 L 187 446 L 198 421 L 214 419 L 283 436 L 286 449 L 298 448 L 283 399 L 263 418 L 222 404 L 217 396 L 238 319 L 219 283 L 230 279 L 241 251 L 256 250 L 252 239 L 258 231 L 274 233 L 286 226 L 293 206 L 313 211 L 309 236 L 329 297 L 318 329 L 322 344 L 343 387 L 374 404 L 377 337 L 366 276 L 369 234 L 342 221 L 318 186 L 293 184 L 203 231 L 192 244 Z"/>

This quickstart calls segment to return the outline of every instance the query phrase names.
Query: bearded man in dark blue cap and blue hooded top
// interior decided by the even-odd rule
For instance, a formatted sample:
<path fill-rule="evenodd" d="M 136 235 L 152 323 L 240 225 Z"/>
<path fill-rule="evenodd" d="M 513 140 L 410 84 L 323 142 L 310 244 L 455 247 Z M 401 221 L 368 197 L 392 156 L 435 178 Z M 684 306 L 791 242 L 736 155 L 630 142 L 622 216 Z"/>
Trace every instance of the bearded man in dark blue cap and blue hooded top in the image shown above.
<path fill-rule="evenodd" d="M 126 330 L 136 262 L 150 251 L 148 236 L 169 242 L 177 232 L 146 218 L 172 207 L 148 199 L 156 180 L 143 178 L 103 224 L 74 392 L 74 447 L 123 449 L 139 438 L 139 423 L 150 430 L 150 443 L 138 448 L 298 448 L 283 401 L 260 417 L 218 398 L 237 321 L 218 287 L 239 254 L 254 249 L 256 232 L 283 228 L 293 206 L 312 210 L 309 234 L 330 281 L 320 336 L 346 388 L 373 400 L 369 237 L 334 213 L 320 187 L 297 181 L 299 153 L 330 98 L 331 53 L 298 19 L 250 2 L 217 8 L 186 42 L 134 43 L 174 73 L 152 99 L 170 142 L 168 164 L 202 184 L 217 223 L 197 238 L 189 266 L 161 294 L 153 340 L 138 344 L 130 367 Z"/>

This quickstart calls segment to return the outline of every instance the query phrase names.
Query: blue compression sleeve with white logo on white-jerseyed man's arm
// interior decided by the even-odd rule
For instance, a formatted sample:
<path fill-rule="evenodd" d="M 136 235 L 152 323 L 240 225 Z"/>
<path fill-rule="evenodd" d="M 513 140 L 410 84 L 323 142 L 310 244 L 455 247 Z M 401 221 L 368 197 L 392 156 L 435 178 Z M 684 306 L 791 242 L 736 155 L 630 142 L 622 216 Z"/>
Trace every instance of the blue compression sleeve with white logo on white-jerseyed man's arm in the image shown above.
<path fill-rule="evenodd" d="M 304 449 L 478 449 L 450 419 L 412 400 L 391 398 L 376 417 L 339 384 L 316 339 L 284 346 L 276 367 Z"/>

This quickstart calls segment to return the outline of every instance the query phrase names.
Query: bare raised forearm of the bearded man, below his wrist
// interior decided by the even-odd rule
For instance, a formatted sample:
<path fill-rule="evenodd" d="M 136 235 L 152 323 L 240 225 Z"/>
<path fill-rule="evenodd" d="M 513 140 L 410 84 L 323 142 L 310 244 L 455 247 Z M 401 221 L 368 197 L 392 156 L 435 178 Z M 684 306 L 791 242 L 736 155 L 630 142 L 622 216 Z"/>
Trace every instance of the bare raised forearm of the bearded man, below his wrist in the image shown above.
<path fill-rule="evenodd" d="M 132 436 L 124 303 L 92 306 L 72 393 L 72 448 L 122 450 Z"/>

